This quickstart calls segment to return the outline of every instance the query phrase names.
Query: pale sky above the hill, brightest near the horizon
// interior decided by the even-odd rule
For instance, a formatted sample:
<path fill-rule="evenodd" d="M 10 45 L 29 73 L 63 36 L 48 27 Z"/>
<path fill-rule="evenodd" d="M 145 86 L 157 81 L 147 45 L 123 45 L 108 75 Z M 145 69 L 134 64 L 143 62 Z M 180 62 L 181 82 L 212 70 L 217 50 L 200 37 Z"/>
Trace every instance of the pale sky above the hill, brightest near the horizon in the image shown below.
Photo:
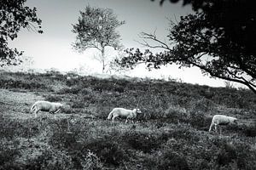
<path fill-rule="evenodd" d="M 23 29 L 18 38 L 9 42 L 11 48 L 25 51 L 24 56 L 33 60 L 32 69 L 58 71 L 83 71 L 85 74 L 101 73 L 100 63 L 93 58 L 96 51 L 86 50 L 79 54 L 72 48 L 76 35 L 72 32 L 73 24 L 78 23 L 79 11 L 86 5 L 99 8 L 112 8 L 118 20 L 125 20 L 125 25 L 118 28 L 121 42 L 125 48 L 144 48 L 139 34 L 144 31 L 167 41 L 169 21 L 178 20 L 181 15 L 193 13 L 189 5 L 166 1 L 160 6 L 155 0 L 27 0 L 26 5 L 36 7 L 38 18 L 43 20 L 43 34 Z M 108 55 L 113 56 L 108 50 Z M 197 83 L 212 87 L 223 87 L 224 81 L 203 77 L 197 68 L 178 69 L 177 65 L 167 65 L 160 70 L 148 71 L 145 65 L 128 71 L 131 77 L 172 78 L 182 82 Z"/>

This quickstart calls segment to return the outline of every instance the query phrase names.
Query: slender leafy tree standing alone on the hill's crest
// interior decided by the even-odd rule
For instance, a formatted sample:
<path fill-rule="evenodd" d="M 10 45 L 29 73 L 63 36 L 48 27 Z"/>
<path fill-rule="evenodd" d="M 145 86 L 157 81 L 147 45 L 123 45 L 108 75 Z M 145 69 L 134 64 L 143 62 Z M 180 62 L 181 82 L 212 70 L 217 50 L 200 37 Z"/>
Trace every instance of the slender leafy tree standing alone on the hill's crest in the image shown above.
<path fill-rule="evenodd" d="M 102 72 L 106 69 L 106 47 L 119 49 L 120 35 L 116 29 L 125 24 L 125 21 L 117 20 L 110 8 L 93 8 L 89 5 L 84 11 L 80 11 L 79 23 L 73 25 L 73 33 L 77 34 L 73 48 L 84 52 L 87 48 L 96 48 L 101 52 L 99 58 L 102 63 Z"/>

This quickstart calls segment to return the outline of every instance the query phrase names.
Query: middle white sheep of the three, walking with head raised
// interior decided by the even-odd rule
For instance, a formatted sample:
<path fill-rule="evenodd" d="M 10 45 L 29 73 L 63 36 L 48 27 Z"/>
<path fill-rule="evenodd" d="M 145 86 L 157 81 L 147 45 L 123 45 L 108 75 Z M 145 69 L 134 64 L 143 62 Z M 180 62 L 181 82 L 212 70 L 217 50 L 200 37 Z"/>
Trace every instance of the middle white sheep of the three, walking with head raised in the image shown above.
<path fill-rule="evenodd" d="M 120 117 L 126 117 L 126 122 L 128 122 L 129 119 L 134 119 L 137 116 L 137 113 L 142 113 L 139 109 L 134 110 L 127 110 L 124 108 L 114 108 L 113 111 L 111 111 L 108 115 L 108 119 L 112 118 L 112 121 L 114 121 L 114 118 L 120 116 Z M 133 122 L 133 120 L 132 120 Z"/>

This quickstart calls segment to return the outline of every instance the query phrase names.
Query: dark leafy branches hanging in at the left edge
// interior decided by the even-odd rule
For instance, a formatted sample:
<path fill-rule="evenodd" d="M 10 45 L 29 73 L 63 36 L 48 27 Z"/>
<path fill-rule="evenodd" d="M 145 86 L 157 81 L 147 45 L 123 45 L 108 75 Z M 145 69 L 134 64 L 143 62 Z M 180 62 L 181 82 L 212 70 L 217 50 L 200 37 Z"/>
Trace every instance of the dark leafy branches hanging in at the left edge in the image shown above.
<path fill-rule="evenodd" d="M 23 54 L 16 48 L 9 48 L 8 41 L 14 40 L 21 28 L 43 33 L 41 22 L 36 14 L 37 8 L 24 5 L 26 0 L 0 1 L 0 66 L 18 65 L 21 60 L 18 56 Z M 35 23 L 37 26 L 33 25 Z"/>

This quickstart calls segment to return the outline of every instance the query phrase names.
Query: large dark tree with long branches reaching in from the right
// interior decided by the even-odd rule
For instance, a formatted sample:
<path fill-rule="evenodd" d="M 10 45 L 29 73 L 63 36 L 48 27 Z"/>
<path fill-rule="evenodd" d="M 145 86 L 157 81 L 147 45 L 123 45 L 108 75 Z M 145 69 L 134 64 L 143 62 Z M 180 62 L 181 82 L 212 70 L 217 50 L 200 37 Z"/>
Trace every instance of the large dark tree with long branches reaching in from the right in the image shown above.
<path fill-rule="evenodd" d="M 256 94 L 255 10 L 241 0 L 202 2 L 205 3 L 199 6 L 200 12 L 181 17 L 179 22 L 171 21 L 169 43 L 160 41 L 155 33 L 142 33 L 143 44 L 162 48 L 162 53 L 126 49 L 129 55 L 117 62 L 126 67 L 143 62 L 156 69 L 172 63 L 196 66 L 211 77 L 244 84 Z M 234 14 L 239 8 L 247 10 L 241 14 L 244 18 Z M 156 43 L 152 45 L 147 40 Z"/>

